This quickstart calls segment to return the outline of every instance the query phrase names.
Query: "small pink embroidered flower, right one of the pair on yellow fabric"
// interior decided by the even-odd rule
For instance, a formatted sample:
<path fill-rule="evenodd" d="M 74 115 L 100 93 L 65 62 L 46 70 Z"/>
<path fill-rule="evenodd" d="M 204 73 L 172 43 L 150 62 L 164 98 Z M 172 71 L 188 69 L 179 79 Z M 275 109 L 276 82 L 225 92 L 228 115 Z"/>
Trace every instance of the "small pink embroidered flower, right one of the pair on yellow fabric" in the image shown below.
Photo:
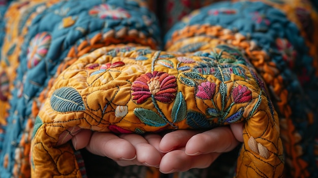
<path fill-rule="evenodd" d="M 252 99 L 252 92 L 242 85 L 238 85 L 232 90 L 232 97 L 235 103 L 248 102 Z"/>

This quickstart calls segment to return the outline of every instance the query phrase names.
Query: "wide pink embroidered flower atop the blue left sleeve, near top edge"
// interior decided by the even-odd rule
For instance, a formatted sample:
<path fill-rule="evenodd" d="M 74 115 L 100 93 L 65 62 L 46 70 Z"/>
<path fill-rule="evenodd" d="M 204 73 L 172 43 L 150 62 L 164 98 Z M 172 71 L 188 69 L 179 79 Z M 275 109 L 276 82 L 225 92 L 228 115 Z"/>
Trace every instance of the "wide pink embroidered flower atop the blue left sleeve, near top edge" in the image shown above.
<path fill-rule="evenodd" d="M 89 15 L 99 16 L 101 19 L 105 19 L 107 17 L 113 19 L 124 19 L 129 18 L 131 15 L 122 8 L 115 8 L 108 4 L 102 4 L 94 7 L 89 11 Z"/>

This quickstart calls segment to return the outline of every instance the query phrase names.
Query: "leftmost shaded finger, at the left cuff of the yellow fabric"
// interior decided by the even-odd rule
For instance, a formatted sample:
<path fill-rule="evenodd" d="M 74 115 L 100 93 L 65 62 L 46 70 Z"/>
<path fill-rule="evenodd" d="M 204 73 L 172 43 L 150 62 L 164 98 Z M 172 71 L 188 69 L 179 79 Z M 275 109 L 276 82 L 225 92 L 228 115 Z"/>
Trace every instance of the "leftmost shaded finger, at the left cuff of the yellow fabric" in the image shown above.
<path fill-rule="evenodd" d="M 85 148 L 90 140 L 91 130 L 82 129 L 72 137 L 72 144 L 75 150 Z"/>

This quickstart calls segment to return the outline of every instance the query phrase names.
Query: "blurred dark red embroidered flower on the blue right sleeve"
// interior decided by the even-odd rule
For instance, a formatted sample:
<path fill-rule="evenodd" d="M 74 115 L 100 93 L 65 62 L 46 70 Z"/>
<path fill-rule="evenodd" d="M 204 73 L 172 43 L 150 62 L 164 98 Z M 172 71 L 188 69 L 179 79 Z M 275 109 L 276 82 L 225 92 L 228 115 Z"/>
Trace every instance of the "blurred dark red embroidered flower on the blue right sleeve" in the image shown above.
<path fill-rule="evenodd" d="M 286 39 L 277 39 L 276 46 L 281 53 L 282 59 L 292 68 L 297 57 L 297 52 L 294 50 L 293 45 Z"/>

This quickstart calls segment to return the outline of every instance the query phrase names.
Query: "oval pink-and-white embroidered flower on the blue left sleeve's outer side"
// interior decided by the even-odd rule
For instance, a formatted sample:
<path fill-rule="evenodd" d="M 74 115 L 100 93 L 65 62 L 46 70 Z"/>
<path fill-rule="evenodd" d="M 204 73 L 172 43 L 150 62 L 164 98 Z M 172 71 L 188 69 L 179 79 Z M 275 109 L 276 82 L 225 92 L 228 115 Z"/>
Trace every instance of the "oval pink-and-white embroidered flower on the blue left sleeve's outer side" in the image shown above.
<path fill-rule="evenodd" d="M 27 67 L 32 68 L 46 56 L 51 45 L 51 35 L 46 32 L 38 33 L 30 42 L 27 49 Z"/>

